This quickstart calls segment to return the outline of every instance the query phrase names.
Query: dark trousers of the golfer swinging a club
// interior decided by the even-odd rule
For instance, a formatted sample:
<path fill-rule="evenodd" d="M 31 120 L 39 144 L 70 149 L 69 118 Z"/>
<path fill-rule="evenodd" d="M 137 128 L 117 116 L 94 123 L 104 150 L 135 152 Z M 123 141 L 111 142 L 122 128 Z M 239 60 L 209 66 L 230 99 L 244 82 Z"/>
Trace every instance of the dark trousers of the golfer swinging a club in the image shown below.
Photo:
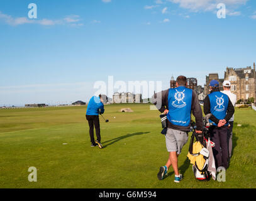
<path fill-rule="evenodd" d="M 97 115 L 86 115 L 86 119 L 89 124 L 89 133 L 91 138 L 91 143 L 94 143 L 94 127 L 96 130 L 97 141 L 101 141 L 101 129 L 99 128 L 99 116 Z"/>

